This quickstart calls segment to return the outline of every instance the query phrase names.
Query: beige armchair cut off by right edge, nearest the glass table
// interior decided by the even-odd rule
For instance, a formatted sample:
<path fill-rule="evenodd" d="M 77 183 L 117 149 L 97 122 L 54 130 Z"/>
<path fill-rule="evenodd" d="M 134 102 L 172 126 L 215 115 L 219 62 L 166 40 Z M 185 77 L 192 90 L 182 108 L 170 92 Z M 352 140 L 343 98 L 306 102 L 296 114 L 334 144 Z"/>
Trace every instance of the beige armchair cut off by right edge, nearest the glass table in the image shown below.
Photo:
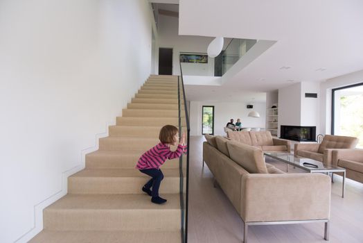
<path fill-rule="evenodd" d="M 363 183 L 363 149 L 335 149 L 332 164 L 345 168 L 347 178 Z"/>

